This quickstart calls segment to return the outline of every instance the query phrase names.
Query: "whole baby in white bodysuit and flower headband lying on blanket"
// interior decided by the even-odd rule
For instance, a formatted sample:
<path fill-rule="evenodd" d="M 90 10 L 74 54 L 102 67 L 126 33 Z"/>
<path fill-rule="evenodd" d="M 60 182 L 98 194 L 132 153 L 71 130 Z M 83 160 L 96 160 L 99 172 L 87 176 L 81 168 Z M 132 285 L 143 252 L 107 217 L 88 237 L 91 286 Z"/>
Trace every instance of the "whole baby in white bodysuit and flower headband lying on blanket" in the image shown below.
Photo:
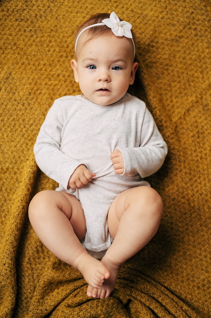
<path fill-rule="evenodd" d="M 107 298 L 121 265 L 155 235 L 159 194 L 143 178 L 167 147 L 144 102 L 127 93 L 138 63 L 132 25 L 98 14 L 76 33 L 71 60 L 81 95 L 57 99 L 40 128 L 38 166 L 59 183 L 29 205 L 46 247 L 78 269 L 87 295 Z"/>

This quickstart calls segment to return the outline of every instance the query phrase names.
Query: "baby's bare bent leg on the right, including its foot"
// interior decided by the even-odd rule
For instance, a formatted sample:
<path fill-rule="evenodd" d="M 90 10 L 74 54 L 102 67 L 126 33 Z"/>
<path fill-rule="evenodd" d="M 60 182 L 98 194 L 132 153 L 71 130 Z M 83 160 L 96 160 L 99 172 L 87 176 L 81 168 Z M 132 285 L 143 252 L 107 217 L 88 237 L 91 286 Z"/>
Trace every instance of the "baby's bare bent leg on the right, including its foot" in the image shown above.
<path fill-rule="evenodd" d="M 151 187 L 140 186 L 121 193 L 111 204 L 108 229 L 114 238 L 102 263 L 110 277 L 100 288 L 88 287 L 88 295 L 107 298 L 115 287 L 121 265 L 155 235 L 162 215 L 162 200 Z"/>

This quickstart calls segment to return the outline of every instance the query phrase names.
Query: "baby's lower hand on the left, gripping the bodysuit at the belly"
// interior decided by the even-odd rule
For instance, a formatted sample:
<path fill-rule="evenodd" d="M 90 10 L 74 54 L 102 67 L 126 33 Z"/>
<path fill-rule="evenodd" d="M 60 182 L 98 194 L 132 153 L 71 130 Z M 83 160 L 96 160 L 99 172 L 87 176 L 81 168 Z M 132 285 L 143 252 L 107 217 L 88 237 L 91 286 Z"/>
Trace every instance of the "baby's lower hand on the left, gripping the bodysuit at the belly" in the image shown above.
<path fill-rule="evenodd" d="M 89 183 L 95 176 L 96 174 L 88 170 L 87 167 L 85 167 L 84 165 L 80 165 L 71 175 L 68 185 L 72 189 L 81 188 L 83 187 L 83 185 Z"/>

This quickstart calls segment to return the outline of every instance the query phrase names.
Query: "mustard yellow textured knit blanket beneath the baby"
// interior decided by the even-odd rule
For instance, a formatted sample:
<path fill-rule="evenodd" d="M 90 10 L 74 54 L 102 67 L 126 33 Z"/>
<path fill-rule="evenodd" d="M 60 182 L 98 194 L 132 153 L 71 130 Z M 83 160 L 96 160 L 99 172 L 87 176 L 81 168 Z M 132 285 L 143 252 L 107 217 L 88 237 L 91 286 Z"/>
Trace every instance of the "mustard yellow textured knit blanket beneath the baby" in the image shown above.
<path fill-rule="evenodd" d="M 54 99 L 79 93 L 76 27 L 115 11 L 133 24 L 143 98 L 168 145 L 148 178 L 164 212 L 152 241 L 122 267 L 106 300 L 34 234 L 32 196 L 56 184 L 33 144 Z M 2 0 L 0 317 L 208 318 L 211 312 L 211 8 L 207 0 Z"/>

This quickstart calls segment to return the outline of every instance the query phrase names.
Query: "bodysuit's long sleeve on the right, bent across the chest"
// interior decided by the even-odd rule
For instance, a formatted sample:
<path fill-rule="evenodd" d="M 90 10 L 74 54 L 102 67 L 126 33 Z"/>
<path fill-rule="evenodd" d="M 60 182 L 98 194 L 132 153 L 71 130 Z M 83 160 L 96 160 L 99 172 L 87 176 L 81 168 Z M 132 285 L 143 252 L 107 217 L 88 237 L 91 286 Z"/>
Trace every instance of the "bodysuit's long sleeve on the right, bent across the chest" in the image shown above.
<path fill-rule="evenodd" d="M 118 148 L 123 155 L 124 173 L 134 176 L 137 173 L 145 178 L 155 173 L 163 164 L 167 146 L 159 133 L 154 119 L 145 109 L 140 146 L 135 148 Z"/>

